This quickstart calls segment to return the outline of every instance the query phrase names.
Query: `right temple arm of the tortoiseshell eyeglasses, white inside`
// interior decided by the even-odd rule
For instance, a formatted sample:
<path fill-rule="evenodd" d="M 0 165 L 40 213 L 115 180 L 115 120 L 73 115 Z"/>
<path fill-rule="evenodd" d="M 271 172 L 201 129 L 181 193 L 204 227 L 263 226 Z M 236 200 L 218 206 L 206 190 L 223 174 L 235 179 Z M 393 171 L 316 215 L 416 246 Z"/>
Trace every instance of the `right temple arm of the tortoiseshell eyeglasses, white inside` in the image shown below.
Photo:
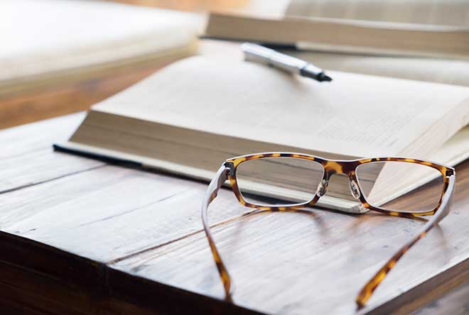
<path fill-rule="evenodd" d="M 362 309 L 363 306 L 365 306 L 365 303 L 370 299 L 372 293 L 374 292 L 374 289 L 376 289 L 379 285 L 379 283 L 384 280 L 384 277 L 388 274 L 388 272 L 396 265 L 396 262 L 404 255 L 409 248 L 412 247 L 417 241 L 419 241 L 421 238 L 423 238 L 428 231 L 433 228 L 433 226 L 436 226 L 441 219 L 443 219 L 449 212 L 451 208 L 451 203 L 453 201 L 453 194 L 454 194 L 454 185 L 455 185 L 455 176 L 451 175 L 449 177 L 448 181 L 448 188 L 446 189 L 446 194 L 444 194 L 443 199 L 441 200 L 441 204 L 439 206 L 439 209 L 436 211 L 436 214 L 431 218 L 431 220 L 427 221 L 425 225 L 421 228 L 419 233 L 416 233 L 416 235 L 411 238 L 411 240 L 406 243 L 406 245 L 402 246 L 399 251 L 392 256 L 391 259 L 386 262 L 386 264 L 379 269 L 379 271 L 372 277 L 370 281 L 365 284 L 365 286 L 361 289 L 360 293 L 357 296 L 356 303 L 357 303 L 357 308 Z"/>

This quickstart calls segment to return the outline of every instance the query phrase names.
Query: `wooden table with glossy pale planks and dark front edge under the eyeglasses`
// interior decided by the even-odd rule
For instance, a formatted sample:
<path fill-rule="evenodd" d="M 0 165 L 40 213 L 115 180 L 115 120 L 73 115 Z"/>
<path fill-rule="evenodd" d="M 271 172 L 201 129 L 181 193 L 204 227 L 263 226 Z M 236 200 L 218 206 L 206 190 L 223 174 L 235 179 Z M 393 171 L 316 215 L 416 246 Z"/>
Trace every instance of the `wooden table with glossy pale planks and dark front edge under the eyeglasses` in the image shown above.
<path fill-rule="evenodd" d="M 319 209 L 231 220 L 214 228 L 230 304 L 202 232 L 206 184 L 53 152 L 82 117 L 0 131 L 2 314 L 355 314 L 358 289 L 424 223 Z M 456 172 L 453 211 L 362 314 L 468 314 L 469 161 Z M 222 189 L 211 211 L 245 209 Z"/>

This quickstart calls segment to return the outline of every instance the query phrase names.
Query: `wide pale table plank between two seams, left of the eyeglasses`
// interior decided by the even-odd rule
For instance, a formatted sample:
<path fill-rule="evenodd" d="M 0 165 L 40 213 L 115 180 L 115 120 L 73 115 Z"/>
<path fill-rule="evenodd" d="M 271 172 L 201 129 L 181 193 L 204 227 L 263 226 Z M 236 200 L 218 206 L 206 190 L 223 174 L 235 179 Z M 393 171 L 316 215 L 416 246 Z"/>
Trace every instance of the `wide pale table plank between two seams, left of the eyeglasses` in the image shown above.
<path fill-rule="evenodd" d="M 107 262 L 200 232 L 204 194 L 200 182 L 106 166 L 7 194 L 0 226 Z"/>

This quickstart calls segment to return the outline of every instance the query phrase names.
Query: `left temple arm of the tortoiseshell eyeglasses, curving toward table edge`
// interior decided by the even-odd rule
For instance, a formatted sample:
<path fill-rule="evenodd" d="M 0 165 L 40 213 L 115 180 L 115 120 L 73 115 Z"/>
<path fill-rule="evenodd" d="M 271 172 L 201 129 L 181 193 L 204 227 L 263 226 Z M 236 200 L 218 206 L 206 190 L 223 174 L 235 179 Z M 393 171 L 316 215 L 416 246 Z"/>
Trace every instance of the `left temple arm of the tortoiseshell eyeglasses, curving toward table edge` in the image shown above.
<path fill-rule="evenodd" d="M 212 232 L 210 231 L 210 225 L 208 224 L 207 219 L 207 209 L 210 203 L 217 197 L 217 192 L 220 187 L 225 183 L 227 179 L 227 172 L 228 169 L 225 165 L 222 165 L 220 169 L 217 171 L 217 174 L 212 179 L 210 184 L 208 185 L 207 192 L 205 193 L 205 197 L 202 204 L 202 223 L 203 229 L 205 234 L 207 235 L 208 243 L 210 245 L 210 250 L 212 250 L 213 259 L 217 265 L 218 273 L 220 274 L 220 279 L 222 280 L 223 287 L 225 288 L 225 299 L 231 300 L 231 277 L 228 274 L 227 268 L 225 264 L 222 262 L 222 258 L 220 257 L 220 253 L 215 246 L 215 241 L 212 237 Z"/>

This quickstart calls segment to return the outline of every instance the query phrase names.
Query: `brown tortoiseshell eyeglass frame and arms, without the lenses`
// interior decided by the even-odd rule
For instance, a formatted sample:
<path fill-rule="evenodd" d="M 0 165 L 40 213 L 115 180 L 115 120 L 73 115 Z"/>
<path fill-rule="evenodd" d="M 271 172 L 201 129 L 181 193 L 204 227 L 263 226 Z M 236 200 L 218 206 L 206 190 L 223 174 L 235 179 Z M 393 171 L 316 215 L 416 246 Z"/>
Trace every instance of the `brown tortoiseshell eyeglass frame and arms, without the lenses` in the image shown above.
<path fill-rule="evenodd" d="M 404 158 L 404 157 L 374 157 L 374 158 L 364 158 L 359 160 L 328 160 L 323 157 L 316 157 L 313 155 L 301 154 L 301 153 L 257 153 L 252 155 L 243 155 L 239 157 L 233 157 L 226 160 L 220 169 L 217 171 L 217 174 L 210 182 L 207 193 L 205 194 L 205 198 L 202 204 L 202 221 L 203 227 L 205 230 L 205 234 L 207 235 L 208 243 L 210 245 L 210 249 L 212 250 L 213 259 L 217 265 L 218 272 L 220 273 L 220 279 L 222 280 L 223 287 L 225 288 L 225 298 L 228 301 L 232 299 L 232 280 L 230 275 L 228 274 L 227 268 L 225 264 L 222 262 L 222 258 L 220 257 L 220 253 L 217 250 L 215 245 L 215 241 L 213 240 L 212 233 L 210 231 L 210 225 L 208 224 L 207 220 L 207 209 L 210 203 L 217 197 L 217 191 L 222 187 L 227 179 L 230 180 L 230 184 L 234 195 L 238 199 L 239 203 L 248 206 L 250 208 L 259 209 L 259 210 L 273 210 L 273 211 L 288 211 L 292 209 L 301 209 L 305 206 L 314 206 L 316 202 L 320 199 L 318 194 L 315 194 L 311 201 L 305 202 L 303 204 L 293 204 L 291 206 L 265 206 L 265 205 L 257 205 L 257 204 L 250 204 L 249 202 L 245 201 L 242 197 L 242 194 L 239 192 L 239 187 L 237 185 L 236 179 L 236 170 L 239 164 L 248 160 L 260 159 L 264 157 L 295 157 L 304 160 L 312 160 L 315 162 L 320 163 L 323 165 L 324 174 L 323 179 L 326 181 L 330 178 L 333 174 L 344 174 L 350 178 L 350 180 L 354 180 L 356 183 L 357 177 L 355 175 L 355 170 L 359 165 L 370 163 L 370 162 L 386 162 L 386 161 L 394 161 L 394 162 L 409 162 L 409 163 L 416 163 L 420 165 L 426 165 L 428 167 L 432 167 L 435 170 L 438 170 L 441 175 L 443 176 L 443 190 L 441 192 L 441 197 L 438 200 L 438 204 L 435 206 L 434 209 L 431 211 L 425 212 L 406 212 L 406 211 L 392 211 L 387 209 L 382 209 L 377 206 L 370 205 L 365 196 L 362 192 L 360 184 L 357 185 L 358 189 L 360 190 L 360 201 L 362 206 L 364 206 L 368 210 L 378 211 L 383 214 L 389 214 L 391 216 L 403 216 L 406 218 L 414 218 L 416 216 L 433 216 L 430 220 L 428 220 L 425 225 L 420 229 L 419 233 L 416 233 L 415 236 L 409 239 L 409 241 L 402 246 L 397 253 L 395 253 L 392 258 L 390 258 L 379 270 L 378 272 L 365 284 L 364 287 L 360 290 L 360 293 L 357 295 L 357 299 L 355 302 L 357 303 L 357 308 L 361 309 L 365 306 L 365 303 L 368 299 L 370 299 L 374 289 L 377 288 L 379 283 L 382 282 L 384 277 L 388 274 L 389 270 L 394 267 L 396 262 L 406 253 L 412 245 L 414 245 L 417 241 L 423 238 L 428 231 L 436 226 L 441 219 L 443 219 L 449 212 L 451 208 L 451 202 L 453 199 L 454 193 L 454 185 L 455 185 L 455 170 L 453 167 L 448 167 L 444 165 L 439 165 L 433 162 L 427 162 L 424 160 L 416 160 L 411 158 Z"/>

